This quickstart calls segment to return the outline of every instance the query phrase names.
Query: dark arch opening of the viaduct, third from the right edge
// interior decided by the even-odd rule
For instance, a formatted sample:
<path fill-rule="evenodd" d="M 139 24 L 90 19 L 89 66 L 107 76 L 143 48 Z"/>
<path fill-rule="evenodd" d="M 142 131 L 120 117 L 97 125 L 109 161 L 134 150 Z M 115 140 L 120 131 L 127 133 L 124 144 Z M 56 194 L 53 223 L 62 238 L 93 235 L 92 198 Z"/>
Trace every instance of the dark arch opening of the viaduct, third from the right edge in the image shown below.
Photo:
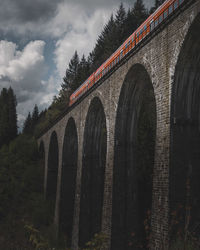
<path fill-rule="evenodd" d="M 83 247 L 101 231 L 104 173 L 107 151 L 106 117 L 98 97 L 90 104 L 86 117 L 79 222 L 79 245 Z"/>

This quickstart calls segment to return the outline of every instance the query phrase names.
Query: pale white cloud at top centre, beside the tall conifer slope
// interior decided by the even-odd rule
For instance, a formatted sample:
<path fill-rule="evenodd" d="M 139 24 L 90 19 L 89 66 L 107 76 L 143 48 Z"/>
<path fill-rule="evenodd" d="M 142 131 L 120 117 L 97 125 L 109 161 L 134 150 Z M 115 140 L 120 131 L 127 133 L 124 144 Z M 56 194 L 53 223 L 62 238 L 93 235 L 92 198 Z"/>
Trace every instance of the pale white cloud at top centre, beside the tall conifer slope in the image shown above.
<path fill-rule="evenodd" d="M 81 6 L 62 3 L 56 17 L 52 20 L 53 36 L 58 36 L 55 49 L 55 63 L 59 76 L 65 74 L 69 60 L 75 50 L 78 54 L 88 55 L 92 51 L 95 41 L 103 25 L 110 17 L 111 11 L 100 8 L 91 15 L 87 15 Z M 76 17 L 76 18 L 74 18 Z"/>

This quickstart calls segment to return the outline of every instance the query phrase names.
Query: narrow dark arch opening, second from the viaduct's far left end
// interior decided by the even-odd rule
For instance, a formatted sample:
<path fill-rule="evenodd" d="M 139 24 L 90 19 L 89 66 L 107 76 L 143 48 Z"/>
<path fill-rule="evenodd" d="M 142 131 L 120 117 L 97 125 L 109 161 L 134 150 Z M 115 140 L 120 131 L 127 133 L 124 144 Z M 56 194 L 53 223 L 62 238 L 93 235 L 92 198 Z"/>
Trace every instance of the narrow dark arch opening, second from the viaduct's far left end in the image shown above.
<path fill-rule="evenodd" d="M 46 185 L 46 199 L 50 202 L 50 214 L 52 222 L 54 218 L 56 191 L 57 191 L 57 176 L 58 176 L 58 139 L 54 131 L 51 134 L 49 153 L 48 153 L 48 169 L 47 169 L 47 185 Z"/>

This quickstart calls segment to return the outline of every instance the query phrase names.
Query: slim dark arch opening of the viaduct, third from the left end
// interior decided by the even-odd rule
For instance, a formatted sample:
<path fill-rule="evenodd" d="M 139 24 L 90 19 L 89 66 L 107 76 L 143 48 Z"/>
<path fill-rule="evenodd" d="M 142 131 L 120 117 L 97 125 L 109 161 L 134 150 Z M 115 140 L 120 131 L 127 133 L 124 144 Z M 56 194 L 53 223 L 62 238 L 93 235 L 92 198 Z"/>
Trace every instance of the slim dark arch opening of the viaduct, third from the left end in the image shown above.
<path fill-rule="evenodd" d="M 72 240 L 77 162 L 78 135 L 75 121 L 71 117 L 67 122 L 63 143 L 59 216 L 60 231 L 66 234 L 69 247 L 71 247 Z"/>

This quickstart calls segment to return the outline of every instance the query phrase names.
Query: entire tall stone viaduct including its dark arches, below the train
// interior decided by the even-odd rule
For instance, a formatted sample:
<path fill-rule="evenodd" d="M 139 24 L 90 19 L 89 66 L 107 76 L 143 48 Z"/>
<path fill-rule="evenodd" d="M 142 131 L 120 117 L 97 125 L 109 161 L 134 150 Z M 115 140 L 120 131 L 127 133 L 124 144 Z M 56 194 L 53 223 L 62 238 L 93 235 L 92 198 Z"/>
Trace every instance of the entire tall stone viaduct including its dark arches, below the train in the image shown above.
<path fill-rule="evenodd" d="M 168 249 L 181 209 L 199 230 L 199 121 L 200 0 L 187 0 L 38 138 L 72 249 L 100 231 L 107 249 L 140 249 L 149 226 L 150 248 Z"/>

